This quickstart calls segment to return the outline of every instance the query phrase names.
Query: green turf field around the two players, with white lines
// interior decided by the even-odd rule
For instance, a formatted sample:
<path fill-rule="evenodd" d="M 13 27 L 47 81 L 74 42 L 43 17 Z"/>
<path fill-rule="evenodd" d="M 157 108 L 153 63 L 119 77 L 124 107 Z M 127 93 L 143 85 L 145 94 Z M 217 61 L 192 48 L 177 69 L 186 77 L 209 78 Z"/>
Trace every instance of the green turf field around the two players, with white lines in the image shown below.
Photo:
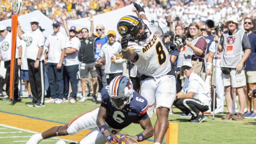
<path fill-rule="evenodd" d="M 22 102 L 16 103 L 14 106 L 10 106 L 10 102 L 0 100 L 0 112 L 7 112 L 13 114 L 19 114 L 22 116 L 28 116 L 37 119 L 43 119 L 51 122 L 57 122 L 61 124 L 68 123 L 76 116 L 90 111 L 100 104 L 87 100 L 84 103 L 46 103 L 45 107 L 27 107 L 26 102 L 30 102 L 27 98 L 22 98 Z M 256 130 L 256 119 L 245 119 L 244 121 L 232 121 L 222 120 L 221 117 L 224 114 L 215 115 L 215 119 L 212 116 L 207 116 L 206 120 L 202 123 L 190 123 L 187 120 L 190 118 L 182 118 L 179 115 L 181 111 L 174 107 L 174 113 L 169 115 L 169 122 L 178 123 L 178 143 L 179 144 L 254 144 L 256 138 L 254 133 Z M 225 110 L 226 111 L 226 107 Z M 151 118 L 151 122 L 154 124 L 156 120 L 156 114 Z M 17 123 L 18 123 L 17 119 Z M 29 127 L 29 126 L 28 126 Z M 42 124 L 42 127 L 43 124 Z M 21 131 L 21 132 L 19 132 Z M 136 135 L 140 133 L 142 129 L 138 124 L 131 124 L 127 128 L 121 131 L 122 134 Z M 29 139 L 29 135 L 33 133 L 30 131 L 22 131 L 11 127 L 5 127 L 0 125 L 0 143 L 10 144 L 26 143 Z M 22 138 L 19 138 L 19 137 Z M 152 142 L 153 137 L 149 141 Z M 47 139 L 42 144 L 54 144 L 56 139 Z M 164 139 L 165 142 L 165 139 Z"/>

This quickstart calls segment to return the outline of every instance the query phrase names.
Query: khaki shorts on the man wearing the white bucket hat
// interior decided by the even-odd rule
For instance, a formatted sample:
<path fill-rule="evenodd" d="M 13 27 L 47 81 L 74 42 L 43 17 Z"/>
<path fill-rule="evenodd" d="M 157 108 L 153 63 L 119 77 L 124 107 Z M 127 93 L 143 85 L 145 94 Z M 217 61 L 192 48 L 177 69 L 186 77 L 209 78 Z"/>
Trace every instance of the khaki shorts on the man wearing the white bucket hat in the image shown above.
<path fill-rule="evenodd" d="M 245 71 L 242 70 L 240 73 L 235 68 L 231 68 L 230 74 L 222 74 L 223 85 L 232 87 L 242 87 L 246 85 Z"/>

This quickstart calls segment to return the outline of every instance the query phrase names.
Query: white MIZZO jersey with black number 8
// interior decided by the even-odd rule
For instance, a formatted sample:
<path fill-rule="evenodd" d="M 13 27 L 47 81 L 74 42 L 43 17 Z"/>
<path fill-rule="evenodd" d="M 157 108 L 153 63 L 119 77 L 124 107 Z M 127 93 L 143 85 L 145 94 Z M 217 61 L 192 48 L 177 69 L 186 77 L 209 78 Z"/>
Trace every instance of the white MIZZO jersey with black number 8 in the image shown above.
<path fill-rule="evenodd" d="M 171 70 L 169 52 L 155 34 L 150 34 L 144 41 L 129 42 L 128 48 L 135 50 L 139 55 L 139 59 L 134 64 L 140 74 L 160 77 Z"/>

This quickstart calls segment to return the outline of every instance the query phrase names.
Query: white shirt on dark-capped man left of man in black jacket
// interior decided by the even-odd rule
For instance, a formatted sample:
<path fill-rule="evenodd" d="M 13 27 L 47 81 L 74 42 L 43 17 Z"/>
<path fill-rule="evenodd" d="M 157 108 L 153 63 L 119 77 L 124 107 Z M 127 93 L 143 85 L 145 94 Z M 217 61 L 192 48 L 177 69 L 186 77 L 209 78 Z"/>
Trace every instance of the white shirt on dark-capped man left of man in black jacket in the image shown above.
<path fill-rule="evenodd" d="M 75 48 L 75 49 L 77 49 L 77 51 L 74 53 L 71 53 L 71 54 L 65 54 L 65 58 L 64 58 L 65 66 L 79 64 L 78 51 L 80 49 L 80 46 L 81 46 L 81 42 L 77 37 L 73 37 L 72 39 L 67 38 L 66 48 L 67 49 Z"/>

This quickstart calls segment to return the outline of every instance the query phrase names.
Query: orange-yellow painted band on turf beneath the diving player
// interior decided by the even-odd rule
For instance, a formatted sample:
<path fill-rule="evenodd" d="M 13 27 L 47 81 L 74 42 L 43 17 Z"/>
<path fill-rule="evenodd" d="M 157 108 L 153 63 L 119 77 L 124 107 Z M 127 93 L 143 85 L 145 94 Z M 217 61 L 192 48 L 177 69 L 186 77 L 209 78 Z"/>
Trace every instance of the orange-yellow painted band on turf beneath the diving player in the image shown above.
<path fill-rule="evenodd" d="M 15 114 L 3 113 L 0 112 L 0 123 L 5 124 L 12 127 L 17 127 L 21 129 L 31 130 L 33 132 L 41 133 L 51 127 L 54 126 L 62 126 L 63 124 L 55 123 L 55 122 L 48 122 L 40 119 L 33 119 L 23 116 L 18 116 Z M 83 130 L 75 135 L 66 135 L 60 136 L 58 138 L 68 139 L 79 142 L 86 134 L 88 134 L 91 130 Z M 139 142 L 139 144 L 153 144 L 153 142 Z"/>

